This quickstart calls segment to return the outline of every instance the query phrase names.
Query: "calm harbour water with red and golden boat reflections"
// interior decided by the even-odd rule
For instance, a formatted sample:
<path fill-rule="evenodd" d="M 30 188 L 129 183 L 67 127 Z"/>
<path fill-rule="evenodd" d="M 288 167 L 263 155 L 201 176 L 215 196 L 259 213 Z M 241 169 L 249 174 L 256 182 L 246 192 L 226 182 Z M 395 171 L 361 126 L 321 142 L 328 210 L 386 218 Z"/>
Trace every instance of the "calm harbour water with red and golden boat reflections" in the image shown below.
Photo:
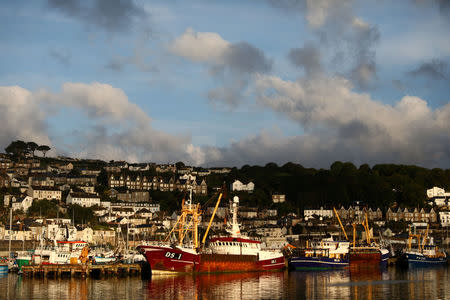
<path fill-rule="evenodd" d="M 153 276 L 0 277 L 1 299 L 450 299 L 448 268 Z"/>

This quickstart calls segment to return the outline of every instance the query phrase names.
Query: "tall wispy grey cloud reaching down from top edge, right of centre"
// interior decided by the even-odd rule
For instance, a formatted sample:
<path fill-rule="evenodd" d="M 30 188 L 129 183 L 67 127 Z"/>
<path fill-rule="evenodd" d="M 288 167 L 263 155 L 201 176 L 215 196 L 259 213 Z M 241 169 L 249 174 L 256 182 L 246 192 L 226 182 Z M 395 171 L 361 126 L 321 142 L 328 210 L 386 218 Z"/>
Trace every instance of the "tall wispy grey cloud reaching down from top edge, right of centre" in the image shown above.
<path fill-rule="evenodd" d="M 304 16 L 319 46 L 324 50 L 323 54 L 331 52 L 329 54 L 338 68 L 337 73 L 346 74 L 361 90 L 374 87 L 377 81 L 375 46 L 380 39 L 380 33 L 376 26 L 355 15 L 354 1 L 269 0 L 269 3 L 284 11 L 297 12 Z M 311 50 L 311 45 L 305 44 L 302 49 Z M 290 53 L 293 51 L 296 49 Z M 316 57 L 316 60 L 320 64 L 315 62 L 315 66 L 324 65 L 321 57 Z"/>

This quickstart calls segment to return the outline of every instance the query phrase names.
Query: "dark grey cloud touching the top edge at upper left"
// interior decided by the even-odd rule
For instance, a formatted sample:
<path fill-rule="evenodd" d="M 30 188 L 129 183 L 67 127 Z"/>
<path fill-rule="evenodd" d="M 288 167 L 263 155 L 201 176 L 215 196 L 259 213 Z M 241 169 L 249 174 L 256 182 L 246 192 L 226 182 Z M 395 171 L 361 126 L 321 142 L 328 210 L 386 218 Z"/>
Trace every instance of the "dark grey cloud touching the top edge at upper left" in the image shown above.
<path fill-rule="evenodd" d="M 146 11 L 133 0 L 48 0 L 48 6 L 64 15 L 108 32 L 126 32 L 138 22 L 149 30 Z"/>

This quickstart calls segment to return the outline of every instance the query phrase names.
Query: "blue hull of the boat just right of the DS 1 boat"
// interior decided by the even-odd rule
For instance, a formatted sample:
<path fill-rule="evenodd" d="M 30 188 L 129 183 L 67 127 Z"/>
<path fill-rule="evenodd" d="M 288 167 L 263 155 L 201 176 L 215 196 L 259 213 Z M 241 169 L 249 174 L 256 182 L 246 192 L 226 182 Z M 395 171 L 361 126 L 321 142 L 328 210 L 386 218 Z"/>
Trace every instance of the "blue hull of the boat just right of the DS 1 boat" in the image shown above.
<path fill-rule="evenodd" d="M 342 269 L 349 266 L 348 259 L 335 259 L 329 257 L 292 257 L 288 260 L 289 269 Z"/>

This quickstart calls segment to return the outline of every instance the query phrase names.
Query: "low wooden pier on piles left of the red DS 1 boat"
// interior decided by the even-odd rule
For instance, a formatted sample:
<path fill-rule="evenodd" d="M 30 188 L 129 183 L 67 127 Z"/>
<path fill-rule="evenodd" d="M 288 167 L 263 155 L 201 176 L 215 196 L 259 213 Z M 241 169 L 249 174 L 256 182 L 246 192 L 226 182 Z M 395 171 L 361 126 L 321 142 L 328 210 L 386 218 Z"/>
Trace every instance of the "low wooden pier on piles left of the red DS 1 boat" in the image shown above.
<path fill-rule="evenodd" d="M 22 266 L 24 277 L 130 276 L 142 272 L 141 264 L 63 264 Z"/>

